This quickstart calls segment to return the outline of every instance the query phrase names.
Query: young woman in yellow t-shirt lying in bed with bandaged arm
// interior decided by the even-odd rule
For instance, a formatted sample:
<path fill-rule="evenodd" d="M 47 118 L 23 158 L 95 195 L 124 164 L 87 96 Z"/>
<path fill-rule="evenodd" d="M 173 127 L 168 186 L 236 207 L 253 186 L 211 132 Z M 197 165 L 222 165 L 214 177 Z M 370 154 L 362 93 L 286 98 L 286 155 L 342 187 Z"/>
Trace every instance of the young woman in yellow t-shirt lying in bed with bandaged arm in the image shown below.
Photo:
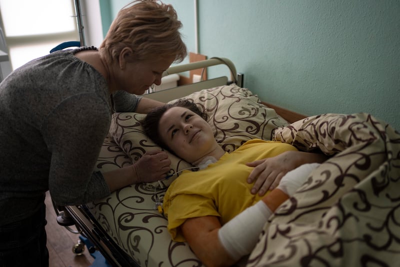
<path fill-rule="evenodd" d="M 269 215 L 326 159 L 259 139 L 227 153 L 187 100 L 155 108 L 142 123 L 154 142 L 200 168 L 179 175 L 163 205 L 172 239 L 187 241 L 207 266 L 229 266 L 248 254 Z M 250 192 L 271 183 L 278 185 L 266 194 Z"/>

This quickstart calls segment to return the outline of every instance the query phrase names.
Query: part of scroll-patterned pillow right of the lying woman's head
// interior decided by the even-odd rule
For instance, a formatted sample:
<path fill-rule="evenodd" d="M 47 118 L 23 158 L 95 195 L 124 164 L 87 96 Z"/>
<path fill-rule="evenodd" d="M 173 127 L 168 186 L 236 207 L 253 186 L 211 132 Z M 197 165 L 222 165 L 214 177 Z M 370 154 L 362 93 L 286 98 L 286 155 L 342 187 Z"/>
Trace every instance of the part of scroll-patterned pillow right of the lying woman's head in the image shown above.
<path fill-rule="evenodd" d="M 227 152 L 250 139 L 271 140 L 273 129 L 288 125 L 257 95 L 237 85 L 204 89 L 183 98 L 192 100 L 207 113 L 215 140 Z"/>

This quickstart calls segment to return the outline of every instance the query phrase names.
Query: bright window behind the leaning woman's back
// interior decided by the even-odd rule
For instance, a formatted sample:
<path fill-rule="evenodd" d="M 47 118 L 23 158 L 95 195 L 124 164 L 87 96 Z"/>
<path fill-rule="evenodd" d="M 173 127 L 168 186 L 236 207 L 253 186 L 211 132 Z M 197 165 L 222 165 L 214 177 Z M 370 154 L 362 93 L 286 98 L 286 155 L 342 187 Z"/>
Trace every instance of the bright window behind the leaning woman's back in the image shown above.
<path fill-rule="evenodd" d="M 79 40 L 73 0 L 0 0 L 0 12 L 13 70 Z"/>

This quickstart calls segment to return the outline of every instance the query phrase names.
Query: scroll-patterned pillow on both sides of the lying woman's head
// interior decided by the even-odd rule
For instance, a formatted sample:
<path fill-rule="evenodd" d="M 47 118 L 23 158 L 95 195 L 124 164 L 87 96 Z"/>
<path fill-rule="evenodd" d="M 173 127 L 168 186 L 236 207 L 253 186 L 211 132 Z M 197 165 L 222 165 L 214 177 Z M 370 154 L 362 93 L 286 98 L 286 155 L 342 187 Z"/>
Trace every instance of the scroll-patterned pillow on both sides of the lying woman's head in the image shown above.
<path fill-rule="evenodd" d="M 288 125 L 273 109 L 261 104 L 257 95 L 234 84 L 204 89 L 183 98 L 192 100 L 201 111 L 207 113 L 215 140 L 227 152 L 250 139 L 271 140 L 273 129 Z M 137 161 L 146 151 L 161 149 L 144 134 L 139 122 L 144 116 L 127 112 L 112 116 L 109 134 L 132 162 Z M 192 167 L 172 153 L 167 153 L 171 161 L 170 174 L 173 176 L 152 183 L 154 186 L 168 186 L 180 170 Z"/>

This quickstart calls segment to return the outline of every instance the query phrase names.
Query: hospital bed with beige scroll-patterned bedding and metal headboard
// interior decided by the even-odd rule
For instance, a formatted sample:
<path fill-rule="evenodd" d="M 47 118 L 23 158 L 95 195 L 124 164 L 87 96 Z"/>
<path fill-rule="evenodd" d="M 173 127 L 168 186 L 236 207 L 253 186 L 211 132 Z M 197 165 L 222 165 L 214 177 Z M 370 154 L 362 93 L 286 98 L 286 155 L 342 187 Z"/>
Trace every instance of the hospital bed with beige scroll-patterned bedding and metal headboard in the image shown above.
<path fill-rule="evenodd" d="M 222 66 L 228 75 L 144 95 L 185 97 L 207 112 L 215 138 L 232 151 L 253 138 L 293 144 L 330 158 L 270 217 L 248 266 L 355 266 L 400 262 L 400 135 L 370 114 L 305 117 L 262 102 L 238 85 L 224 58 L 170 67 L 164 75 Z M 267 89 L 265 89 L 267 90 Z M 136 113 L 114 114 L 96 169 L 132 164 L 158 148 Z M 134 184 L 85 205 L 66 206 L 77 228 L 114 266 L 202 266 L 187 243 L 174 242 L 159 212 L 167 186 L 190 164 L 169 154 L 171 177 Z"/>

